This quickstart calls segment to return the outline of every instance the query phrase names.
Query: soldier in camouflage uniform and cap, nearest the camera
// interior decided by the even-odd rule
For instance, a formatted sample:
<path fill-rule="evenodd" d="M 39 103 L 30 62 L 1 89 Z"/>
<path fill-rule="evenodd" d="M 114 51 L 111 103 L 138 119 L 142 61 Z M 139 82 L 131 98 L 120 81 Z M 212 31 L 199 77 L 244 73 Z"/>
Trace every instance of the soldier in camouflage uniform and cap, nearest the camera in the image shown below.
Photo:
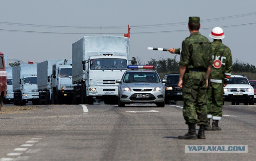
<path fill-rule="evenodd" d="M 212 46 L 210 41 L 198 32 L 199 21 L 199 17 L 189 17 L 188 28 L 191 35 L 182 43 L 178 86 L 183 88 L 183 116 L 185 123 L 188 124 L 188 133 L 179 136 L 179 139 L 205 139 L 206 85 L 212 67 Z M 179 54 L 180 49 L 168 49 L 168 51 Z M 198 135 L 196 135 L 196 123 L 200 126 Z"/>

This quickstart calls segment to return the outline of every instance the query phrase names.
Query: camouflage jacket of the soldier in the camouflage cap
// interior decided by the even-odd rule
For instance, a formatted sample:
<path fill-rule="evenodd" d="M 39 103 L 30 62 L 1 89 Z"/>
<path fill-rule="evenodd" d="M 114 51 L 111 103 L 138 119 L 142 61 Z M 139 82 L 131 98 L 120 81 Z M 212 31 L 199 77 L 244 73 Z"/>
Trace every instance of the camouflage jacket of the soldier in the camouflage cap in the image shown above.
<path fill-rule="evenodd" d="M 210 41 L 199 32 L 191 33 L 182 42 L 180 65 L 187 66 L 187 69 L 203 69 L 206 71 L 210 64 L 212 64 Z"/>

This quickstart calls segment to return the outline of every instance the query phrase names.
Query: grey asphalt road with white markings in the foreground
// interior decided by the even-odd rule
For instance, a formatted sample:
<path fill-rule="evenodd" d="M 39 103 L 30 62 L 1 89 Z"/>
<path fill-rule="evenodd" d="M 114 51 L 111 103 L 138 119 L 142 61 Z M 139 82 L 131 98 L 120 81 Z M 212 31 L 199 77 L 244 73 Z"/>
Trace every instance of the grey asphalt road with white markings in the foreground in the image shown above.
<path fill-rule="evenodd" d="M 187 133 L 182 106 L 42 105 L 0 115 L 0 161 L 255 160 L 256 106 L 225 105 L 222 131 L 178 140 Z M 248 153 L 184 153 L 185 144 L 243 144 Z"/>

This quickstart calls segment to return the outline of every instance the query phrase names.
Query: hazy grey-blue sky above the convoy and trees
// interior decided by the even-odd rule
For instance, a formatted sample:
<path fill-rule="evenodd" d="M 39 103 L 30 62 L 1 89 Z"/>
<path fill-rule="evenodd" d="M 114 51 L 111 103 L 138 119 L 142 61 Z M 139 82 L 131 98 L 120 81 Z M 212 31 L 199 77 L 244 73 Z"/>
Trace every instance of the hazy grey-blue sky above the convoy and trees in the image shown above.
<path fill-rule="evenodd" d="M 187 24 L 165 27 L 133 28 L 133 26 L 188 22 L 189 16 L 201 20 L 256 12 L 256 0 L 0 0 L 0 51 L 8 59 L 44 61 L 72 56 L 72 43 L 88 34 L 26 33 L 3 30 L 61 33 L 127 33 L 127 28 L 46 28 L 7 25 L 26 23 L 48 26 L 128 26 L 131 27 L 130 59 L 138 56 L 149 61 L 173 58 L 174 54 L 148 51 L 147 47 L 180 48 L 188 31 Z M 201 28 L 256 23 L 256 14 L 239 18 L 201 22 Z M 223 43 L 230 47 L 232 59 L 256 65 L 256 24 L 223 28 Z M 1 31 L 2 30 L 2 31 Z M 200 31 L 209 37 L 211 29 Z M 114 35 L 114 34 L 112 34 Z M 115 34 L 123 36 L 123 34 Z M 177 57 L 178 60 L 180 57 Z"/>

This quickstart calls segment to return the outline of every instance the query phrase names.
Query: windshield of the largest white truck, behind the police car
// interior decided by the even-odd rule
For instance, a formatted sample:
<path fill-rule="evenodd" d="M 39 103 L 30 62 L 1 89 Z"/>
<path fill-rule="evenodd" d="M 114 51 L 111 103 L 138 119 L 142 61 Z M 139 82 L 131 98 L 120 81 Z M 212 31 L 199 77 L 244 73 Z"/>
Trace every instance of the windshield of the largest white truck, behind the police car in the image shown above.
<path fill-rule="evenodd" d="M 91 70 L 126 70 L 126 59 L 91 59 Z"/>

